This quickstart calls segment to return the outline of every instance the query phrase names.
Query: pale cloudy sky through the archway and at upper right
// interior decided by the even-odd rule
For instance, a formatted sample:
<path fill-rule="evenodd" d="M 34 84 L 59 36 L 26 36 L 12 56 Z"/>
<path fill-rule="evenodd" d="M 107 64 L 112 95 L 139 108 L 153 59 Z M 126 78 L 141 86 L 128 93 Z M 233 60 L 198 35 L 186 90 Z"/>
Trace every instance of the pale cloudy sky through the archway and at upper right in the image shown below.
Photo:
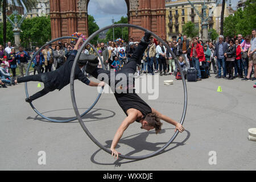
<path fill-rule="evenodd" d="M 232 7 L 236 7 L 239 0 L 231 0 Z M 229 3 L 229 0 L 226 1 Z M 90 0 L 88 14 L 93 15 L 100 28 L 112 24 L 111 20 L 117 22 L 121 16 L 127 16 L 127 5 L 125 0 Z"/>

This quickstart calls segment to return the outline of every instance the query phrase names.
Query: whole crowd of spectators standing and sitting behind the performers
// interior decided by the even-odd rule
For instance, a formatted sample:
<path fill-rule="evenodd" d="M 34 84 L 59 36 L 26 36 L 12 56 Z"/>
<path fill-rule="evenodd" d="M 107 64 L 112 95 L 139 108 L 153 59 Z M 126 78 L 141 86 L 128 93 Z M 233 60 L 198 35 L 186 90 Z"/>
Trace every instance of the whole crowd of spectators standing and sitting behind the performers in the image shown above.
<path fill-rule="evenodd" d="M 228 80 L 237 77 L 241 80 L 256 80 L 255 36 L 254 29 L 251 35 L 246 35 L 244 38 L 241 34 L 238 34 L 236 38 L 224 38 L 220 35 L 216 42 L 203 42 L 199 37 L 189 40 L 186 35 L 179 34 L 177 39 L 166 42 L 177 57 L 177 63 L 169 49 L 156 39 L 152 39 L 141 57 L 142 72 L 138 72 L 151 75 L 159 73 L 160 76 L 174 75 L 177 78 L 180 75 L 177 64 L 180 64 L 184 75 L 188 68 L 195 68 L 197 81 L 202 79 L 201 67 L 204 67 L 206 77 L 214 74 L 216 78 Z M 130 60 L 138 44 L 139 42 L 134 42 L 133 38 L 130 38 L 128 43 L 124 43 L 123 40 L 109 41 L 107 44 L 98 43 L 94 46 L 98 53 L 94 52 L 90 45 L 85 47 L 84 53 L 100 55 L 106 69 L 119 71 Z M 11 42 L 7 43 L 6 48 L 0 45 L 0 85 L 2 87 L 6 87 L 6 84 L 15 85 L 16 68 L 19 68 L 19 76 L 23 77 L 27 72 L 29 60 L 32 61 L 34 75 L 36 72 L 40 74 L 60 68 L 68 59 L 74 46 L 73 41 L 59 42 L 54 48 L 46 46 L 31 60 L 39 47 L 36 47 L 35 51 L 29 55 L 22 46 L 18 47 L 18 52 L 16 52 Z M 101 61 L 98 67 L 102 68 Z"/>

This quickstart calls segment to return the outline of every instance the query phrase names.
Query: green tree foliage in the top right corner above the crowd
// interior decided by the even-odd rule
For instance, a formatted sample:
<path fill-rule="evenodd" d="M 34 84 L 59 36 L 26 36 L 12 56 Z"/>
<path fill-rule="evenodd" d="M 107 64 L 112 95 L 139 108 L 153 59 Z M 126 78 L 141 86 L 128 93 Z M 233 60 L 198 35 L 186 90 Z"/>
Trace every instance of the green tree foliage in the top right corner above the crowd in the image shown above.
<path fill-rule="evenodd" d="M 256 2 L 246 2 L 245 9 L 238 9 L 234 15 L 229 15 L 224 20 L 224 36 L 234 37 L 237 34 L 250 35 L 256 27 Z"/>

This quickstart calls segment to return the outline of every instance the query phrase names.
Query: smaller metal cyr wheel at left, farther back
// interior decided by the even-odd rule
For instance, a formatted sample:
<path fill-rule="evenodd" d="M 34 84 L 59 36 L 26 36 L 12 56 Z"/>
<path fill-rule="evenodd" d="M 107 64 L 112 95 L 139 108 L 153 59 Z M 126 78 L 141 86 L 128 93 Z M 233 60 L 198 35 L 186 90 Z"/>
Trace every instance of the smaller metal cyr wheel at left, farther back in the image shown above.
<path fill-rule="evenodd" d="M 35 56 L 38 55 L 38 53 L 41 52 L 42 49 L 45 48 L 46 46 L 48 46 L 49 44 L 51 44 L 51 43 L 53 43 L 53 42 L 56 42 L 56 41 L 58 41 L 58 40 L 62 40 L 62 39 L 76 39 L 76 40 L 77 40 L 77 39 L 79 39 L 79 38 L 75 38 L 75 37 L 73 37 L 73 36 L 64 36 L 64 37 L 61 37 L 61 38 L 53 39 L 53 40 L 51 40 L 50 42 L 44 44 L 44 46 L 40 47 L 39 50 L 36 51 L 36 53 L 33 55 L 33 57 L 32 57 L 32 59 L 31 59 L 30 63 L 28 64 L 26 76 L 28 75 L 28 71 L 29 71 L 29 69 L 30 69 L 30 67 L 31 67 L 32 61 L 34 60 Z M 98 54 L 97 49 L 94 48 L 94 47 L 92 46 L 92 44 L 90 44 L 90 43 L 87 43 L 87 44 L 89 44 L 90 47 L 92 47 L 93 50 Z M 100 56 L 99 54 L 98 54 L 98 56 L 100 57 L 101 64 L 102 64 L 102 67 L 103 67 L 103 66 L 104 66 L 103 60 L 101 59 L 101 56 Z M 76 63 L 77 63 L 77 62 L 76 62 Z M 105 67 L 103 67 L 103 68 L 105 69 Z M 29 95 L 28 95 L 28 90 L 27 90 L 27 82 L 25 82 L 25 92 L 26 92 L 26 96 L 27 96 L 27 98 L 28 98 Z M 98 100 L 100 99 L 102 92 L 103 92 L 103 89 L 101 89 L 100 93 L 98 94 L 98 96 L 97 96 L 96 100 L 93 102 L 93 104 L 92 104 L 86 111 L 84 111 L 84 113 L 81 114 L 81 117 L 83 117 L 83 116 L 84 116 L 85 114 L 87 114 L 90 110 L 92 110 L 92 108 L 97 104 Z M 58 123 L 64 123 L 64 122 L 75 121 L 75 120 L 77 119 L 77 117 L 73 117 L 73 118 L 70 118 L 70 119 L 63 119 L 63 120 L 48 118 L 48 117 L 46 117 L 45 115 L 43 115 L 42 113 L 40 113 L 40 112 L 35 108 L 35 106 L 32 104 L 32 102 L 30 102 L 30 106 L 32 107 L 32 109 L 33 109 L 38 115 L 40 115 L 40 117 L 46 119 L 47 121 L 58 122 Z"/>

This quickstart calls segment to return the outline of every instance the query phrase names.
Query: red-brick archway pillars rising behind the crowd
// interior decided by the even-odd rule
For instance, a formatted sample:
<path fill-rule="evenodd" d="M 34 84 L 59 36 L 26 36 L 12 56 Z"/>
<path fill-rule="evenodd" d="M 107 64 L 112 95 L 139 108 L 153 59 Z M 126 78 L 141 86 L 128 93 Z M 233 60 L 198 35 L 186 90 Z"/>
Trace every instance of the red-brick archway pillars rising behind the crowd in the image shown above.
<path fill-rule="evenodd" d="M 79 31 L 88 36 L 87 7 L 90 0 L 50 0 L 52 39 L 71 36 Z M 166 40 L 166 8 L 164 0 L 125 0 L 128 21 L 142 26 Z M 143 32 L 129 29 L 129 37 L 140 40 Z"/>

